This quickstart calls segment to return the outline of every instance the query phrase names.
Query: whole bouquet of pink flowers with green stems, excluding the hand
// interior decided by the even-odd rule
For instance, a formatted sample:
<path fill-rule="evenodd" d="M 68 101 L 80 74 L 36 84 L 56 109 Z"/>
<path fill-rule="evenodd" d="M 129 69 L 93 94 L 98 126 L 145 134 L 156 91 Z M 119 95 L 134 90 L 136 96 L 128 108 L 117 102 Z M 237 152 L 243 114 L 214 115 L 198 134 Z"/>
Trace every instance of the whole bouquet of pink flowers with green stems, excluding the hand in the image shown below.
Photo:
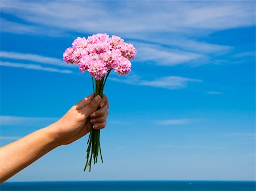
<path fill-rule="evenodd" d="M 106 79 L 110 72 L 114 70 L 118 75 L 125 75 L 131 71 L 131 62 L 137 53 L 132 44 L 127 44 L 118 36 L 109 37 L 106 33 L 97 35 L 78 37 L 72 43 L 71 48 L 67 48 L 63 54 L 63 59 L 67 63 L 76 63 L 79 70 L 84 73 L 86 70 L 92 77 L 93 95 L 102 96 Z M 103 163 L 100 145 L 100 130 L 91 128 L 87 142 L 86 167 L 89 171 L 92 165 L 97 163 L 98 151 L 100 150 L 101 161 Z"/>

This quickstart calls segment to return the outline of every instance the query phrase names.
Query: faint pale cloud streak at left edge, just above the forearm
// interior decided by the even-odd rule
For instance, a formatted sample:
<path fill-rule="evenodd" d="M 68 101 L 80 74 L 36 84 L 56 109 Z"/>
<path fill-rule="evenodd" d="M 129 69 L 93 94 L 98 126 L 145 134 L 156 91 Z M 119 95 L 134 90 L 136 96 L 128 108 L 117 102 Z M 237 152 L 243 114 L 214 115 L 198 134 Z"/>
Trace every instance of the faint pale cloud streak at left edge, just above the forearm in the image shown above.
<path fill-rule="evenodd" d="M 56 117 L 0 116 L 0 125 L 38 125 L 49 124 L 56 120 L 58 120 Z"/>

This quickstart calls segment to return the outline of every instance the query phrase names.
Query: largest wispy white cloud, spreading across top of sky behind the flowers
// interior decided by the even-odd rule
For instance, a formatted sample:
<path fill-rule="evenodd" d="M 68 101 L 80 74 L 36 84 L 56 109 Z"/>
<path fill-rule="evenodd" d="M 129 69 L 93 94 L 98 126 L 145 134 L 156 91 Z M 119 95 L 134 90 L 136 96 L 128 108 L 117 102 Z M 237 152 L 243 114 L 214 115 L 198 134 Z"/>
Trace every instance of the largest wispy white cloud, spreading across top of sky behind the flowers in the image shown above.
<path fill-rule="evenodd" d="M 47 36 L 107 32 L 127 39 L 146 40 L 151 45 L 136 46 L 137 60 L 173 66 L 181 63 L 201 65 L 208 63 L 212 54 L 232 50 L 231 46 L 196 40 L 198 36 L 255 25 L 254 3 L 249 1 L 115 1 L 114 11 L 112 3 L 3 1 L 1 11 L 24 22 L 15 23 L 3 18 L 1 30 Z M 172 47 L 163 48 L 159 44 Z"/>

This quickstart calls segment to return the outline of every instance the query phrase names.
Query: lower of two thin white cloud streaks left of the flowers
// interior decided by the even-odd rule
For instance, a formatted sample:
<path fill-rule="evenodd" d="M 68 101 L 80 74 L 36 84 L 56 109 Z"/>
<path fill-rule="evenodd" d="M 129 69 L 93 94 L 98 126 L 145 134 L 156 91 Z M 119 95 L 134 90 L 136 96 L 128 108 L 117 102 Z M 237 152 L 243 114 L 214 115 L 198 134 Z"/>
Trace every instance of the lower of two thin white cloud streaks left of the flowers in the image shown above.
<path fill-rule="evenodd" d="M 53 67 L 43 67 L 40 65 L 27 64 L 27 63 L 0 62 L 0 66 L 20 67 L 23 69 L 51 71 L 51 72 L 55 72 L 55 73 L 64 73 L 64 74 L 73 73 L 73 71 L 71 71 L 71 70 L 60 70 L 60 69 L 55 69 Z"/>

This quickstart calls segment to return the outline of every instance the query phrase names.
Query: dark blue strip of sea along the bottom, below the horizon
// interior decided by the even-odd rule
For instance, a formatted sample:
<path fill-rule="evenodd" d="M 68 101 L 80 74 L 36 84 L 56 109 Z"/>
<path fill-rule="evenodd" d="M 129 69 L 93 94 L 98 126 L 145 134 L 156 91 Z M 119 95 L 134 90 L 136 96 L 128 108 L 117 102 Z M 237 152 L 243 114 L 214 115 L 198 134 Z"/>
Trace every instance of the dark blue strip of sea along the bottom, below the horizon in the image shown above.
<path fill-rule="evenodd" d="M 0 190 L 40 191 L 251 191 L 254 181 L 61 181 L 61 182 L 5 182 Z"/>

